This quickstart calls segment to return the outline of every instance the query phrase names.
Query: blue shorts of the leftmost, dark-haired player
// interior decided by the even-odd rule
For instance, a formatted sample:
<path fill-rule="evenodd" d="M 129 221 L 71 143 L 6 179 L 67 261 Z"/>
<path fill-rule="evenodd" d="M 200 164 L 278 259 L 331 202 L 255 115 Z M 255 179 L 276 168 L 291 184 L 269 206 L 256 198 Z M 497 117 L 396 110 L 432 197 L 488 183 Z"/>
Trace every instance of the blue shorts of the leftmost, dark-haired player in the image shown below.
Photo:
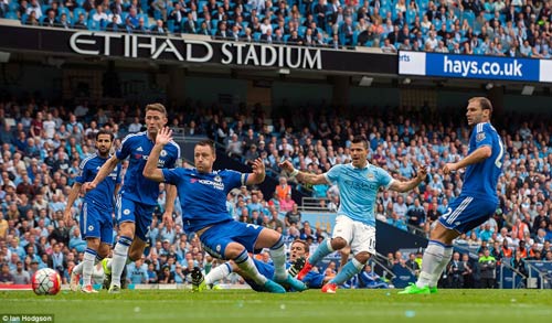
<path fill-rule="evenodd" d="M 113 245 L 112 212 L 91 202 L 83 202 L 81 206 L 81 236 L 99 238 L 104 244 Z"/>

